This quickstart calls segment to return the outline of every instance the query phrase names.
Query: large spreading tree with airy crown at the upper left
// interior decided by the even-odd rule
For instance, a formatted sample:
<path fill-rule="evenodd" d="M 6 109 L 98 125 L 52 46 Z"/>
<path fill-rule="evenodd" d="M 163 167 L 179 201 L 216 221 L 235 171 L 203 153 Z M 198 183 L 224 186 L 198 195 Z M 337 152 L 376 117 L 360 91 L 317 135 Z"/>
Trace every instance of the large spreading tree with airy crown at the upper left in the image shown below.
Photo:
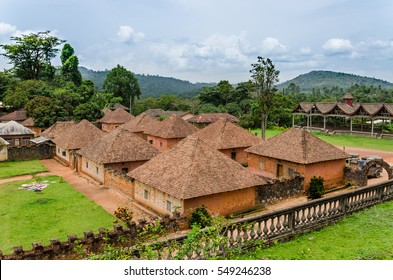
<path fill-rule="evenodd" d="M 11 37 L 14 44 L 0 45 L 10 60 L 12 70 L 22 80 L 52 78 L 54 67 L 51 59 L 58 53 L 57 46 L 64 40 L 51 36 L 50 31 Z M 48 77 L 49 76 L 49 77 Z"/>

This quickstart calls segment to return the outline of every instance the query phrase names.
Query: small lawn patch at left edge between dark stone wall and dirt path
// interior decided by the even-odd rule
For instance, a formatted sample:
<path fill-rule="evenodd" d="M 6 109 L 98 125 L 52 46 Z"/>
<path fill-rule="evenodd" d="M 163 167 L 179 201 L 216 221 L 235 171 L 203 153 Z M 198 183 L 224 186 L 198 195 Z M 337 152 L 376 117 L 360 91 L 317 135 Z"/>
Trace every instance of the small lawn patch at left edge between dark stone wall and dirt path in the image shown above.
<path fill-rule="evenodd" d="M 39 160 L 6 161 L 0 163 L 0 179 L 48 171 Z"/>

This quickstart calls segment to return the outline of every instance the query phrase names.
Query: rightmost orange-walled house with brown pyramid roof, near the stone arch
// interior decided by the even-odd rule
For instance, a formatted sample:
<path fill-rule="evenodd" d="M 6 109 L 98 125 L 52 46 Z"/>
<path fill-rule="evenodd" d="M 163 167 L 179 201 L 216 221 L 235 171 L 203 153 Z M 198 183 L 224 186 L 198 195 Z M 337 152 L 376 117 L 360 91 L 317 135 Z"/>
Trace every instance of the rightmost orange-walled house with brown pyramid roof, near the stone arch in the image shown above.
<path fill-rule="evenodd" d="M 304 129 L 292 128 L 245 150 L 248 167 L 272 177 L 301 174 L 307 188 L 313 176 L 327 187 L 343 182 L 348 154 Z"/>

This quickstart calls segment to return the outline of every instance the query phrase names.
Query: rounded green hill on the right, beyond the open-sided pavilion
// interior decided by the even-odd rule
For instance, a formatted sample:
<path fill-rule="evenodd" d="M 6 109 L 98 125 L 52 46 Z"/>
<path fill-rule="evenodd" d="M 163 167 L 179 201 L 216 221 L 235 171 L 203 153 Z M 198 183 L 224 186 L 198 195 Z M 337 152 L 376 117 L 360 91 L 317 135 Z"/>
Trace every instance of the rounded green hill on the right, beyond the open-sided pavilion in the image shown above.
<path fill-rule="evenodd" d="M 311 71 L 300 75 L 292 80 L 277 85 L 279 90 L 288 87 L 291 83 L 300 87 L 302 92 L 311 92 L 313 88 L 350 88 L 352 85 L 368 85 L 393 89 L 393 84 L 376 78 L 362 77 L 353 74 L 332 72 L 332 71 Z"/>

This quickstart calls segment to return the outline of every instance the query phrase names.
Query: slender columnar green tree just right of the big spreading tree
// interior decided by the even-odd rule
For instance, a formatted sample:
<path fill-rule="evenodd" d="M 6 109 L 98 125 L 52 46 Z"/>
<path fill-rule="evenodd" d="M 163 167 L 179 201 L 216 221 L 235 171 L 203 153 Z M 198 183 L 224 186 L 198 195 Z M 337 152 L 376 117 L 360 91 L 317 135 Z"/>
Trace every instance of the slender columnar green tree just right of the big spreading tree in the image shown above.
<path fill-rule="evenodd" d="M 79 60 L 74 55 L 74 49 L 70 44 L 65 44 L 61 50 L 61 75 L 66 81 L 71 81 L 79 86 L 82 83 L 82 74 L 79 71 Z"/>

